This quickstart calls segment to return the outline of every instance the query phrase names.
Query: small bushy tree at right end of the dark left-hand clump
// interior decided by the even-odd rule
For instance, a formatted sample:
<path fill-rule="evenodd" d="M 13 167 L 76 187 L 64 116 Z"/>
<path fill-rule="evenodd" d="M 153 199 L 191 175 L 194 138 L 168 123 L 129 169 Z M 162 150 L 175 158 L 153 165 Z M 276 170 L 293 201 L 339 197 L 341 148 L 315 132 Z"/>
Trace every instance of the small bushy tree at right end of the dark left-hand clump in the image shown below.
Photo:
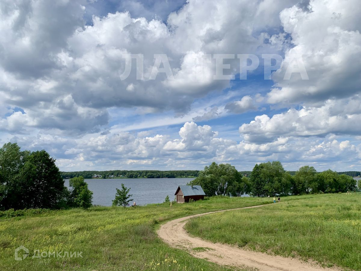
<path fill-rule="evenodd" d="M 69 180 L 70 191 L 68 205 L 71 207 L 80 207 L 87 209 L 92 205 L 93 192 L 88 189 L 88 184 L 84 177 L 74 177 Z"/>

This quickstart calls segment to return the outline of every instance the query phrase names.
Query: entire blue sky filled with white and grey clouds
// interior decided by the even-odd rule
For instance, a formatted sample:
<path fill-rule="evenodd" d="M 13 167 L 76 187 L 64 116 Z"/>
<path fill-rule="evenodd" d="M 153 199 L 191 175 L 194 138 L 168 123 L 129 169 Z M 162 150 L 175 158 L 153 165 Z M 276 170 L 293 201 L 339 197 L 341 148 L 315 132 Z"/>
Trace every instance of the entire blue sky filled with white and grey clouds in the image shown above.
<path fill-rule="evenodd" d="M 61 171 L 360 171 L 358 2 L 2 0 L 0 144 Z"/>

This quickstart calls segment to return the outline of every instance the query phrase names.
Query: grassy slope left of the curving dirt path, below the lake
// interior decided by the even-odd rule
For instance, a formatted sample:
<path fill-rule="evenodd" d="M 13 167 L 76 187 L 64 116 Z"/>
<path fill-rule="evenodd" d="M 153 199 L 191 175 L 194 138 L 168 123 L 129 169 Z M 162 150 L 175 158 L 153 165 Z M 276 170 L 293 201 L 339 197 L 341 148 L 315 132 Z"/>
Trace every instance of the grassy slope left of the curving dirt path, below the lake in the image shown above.
<path fill-rule="evenodd" d="M 86 211 L 72 209 L 0 219 L 0 270 L 152 270 L 153 267 L 156 270 L 226 270 L 164 244 L 155 232 L 159 223 L 269 201 L 268 198 L 211 198 L 174 204 L 172 210 L 167 204 L 92 207 Z M 30 256 L 15 261 L 14 249 L 20 245 L 30 250 Z M 37 249 L 83 251 L 83 258 L 32 259 Z"/>

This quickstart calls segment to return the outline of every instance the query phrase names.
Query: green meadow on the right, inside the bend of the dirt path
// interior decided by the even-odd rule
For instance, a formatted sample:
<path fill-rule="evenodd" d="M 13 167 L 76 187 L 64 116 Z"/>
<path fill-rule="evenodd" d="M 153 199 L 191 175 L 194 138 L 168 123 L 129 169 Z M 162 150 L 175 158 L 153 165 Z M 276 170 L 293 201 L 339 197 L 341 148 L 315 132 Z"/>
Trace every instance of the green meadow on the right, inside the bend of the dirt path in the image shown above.
<path fill-rule="evenodd" d="M 213 242 L 361 270 L 361 196 L 298 199 L 201 216 L 190 220 L 186 229 Z"/>

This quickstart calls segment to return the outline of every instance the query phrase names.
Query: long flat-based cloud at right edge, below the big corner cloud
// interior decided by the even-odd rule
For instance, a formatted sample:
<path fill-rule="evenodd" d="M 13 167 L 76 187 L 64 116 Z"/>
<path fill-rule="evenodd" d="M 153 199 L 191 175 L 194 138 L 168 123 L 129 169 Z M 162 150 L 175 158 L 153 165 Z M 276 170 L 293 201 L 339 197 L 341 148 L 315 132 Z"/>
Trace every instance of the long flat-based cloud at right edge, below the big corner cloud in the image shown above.
<path fill-rule="evenodd" d="M 272 141 L 278 136 L 357 135 L 361 127 L 360 96 L 352 99 L 327 100 L 321 107 L 294 108 L 287 112 L 256 116 L 249 124 L 242 124 L 239 132 L 251 142 Z"/>

